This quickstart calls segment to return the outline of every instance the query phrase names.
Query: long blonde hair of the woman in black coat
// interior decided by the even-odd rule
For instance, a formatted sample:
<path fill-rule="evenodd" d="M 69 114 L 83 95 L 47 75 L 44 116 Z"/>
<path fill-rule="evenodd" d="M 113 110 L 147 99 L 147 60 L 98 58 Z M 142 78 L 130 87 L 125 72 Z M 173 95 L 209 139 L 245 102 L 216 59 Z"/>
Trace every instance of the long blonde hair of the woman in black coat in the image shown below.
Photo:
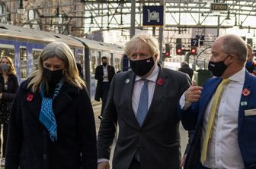
<path fill-rule="evenodd" d="M 48 89 L 46 79 L 43 77 L 43 61 L 53 57 L 59 58 L 65 63 L 63 80 L 82 89 L 85 86 L 85 82 L 79 77 L 72 50 L 64 42 L 50 42 L 44 47 L 43 52 L 38 58 L 38 70 L 30 74 L 30 82 L 27 88 L 31 87 L 32 92 L 36 92 L 40 89 L 41 84 L 45 84 L 46 89 Z"/>

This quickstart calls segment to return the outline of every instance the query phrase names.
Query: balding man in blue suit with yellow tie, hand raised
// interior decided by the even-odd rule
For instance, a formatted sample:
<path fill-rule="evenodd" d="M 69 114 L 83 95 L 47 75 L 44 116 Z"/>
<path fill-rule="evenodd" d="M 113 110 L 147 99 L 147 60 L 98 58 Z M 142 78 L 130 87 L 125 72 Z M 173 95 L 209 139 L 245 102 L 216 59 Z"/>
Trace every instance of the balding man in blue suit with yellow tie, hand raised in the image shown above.
<path fill-rule="evenodd" d="M 213 76 L 190 86 L 180 100 L 186 130 L 194 130 L 184 168 L 252 169 L 256 166 L 256 77 L 245 70 L 247 46 L 235 35 L 213 42 Z"/>

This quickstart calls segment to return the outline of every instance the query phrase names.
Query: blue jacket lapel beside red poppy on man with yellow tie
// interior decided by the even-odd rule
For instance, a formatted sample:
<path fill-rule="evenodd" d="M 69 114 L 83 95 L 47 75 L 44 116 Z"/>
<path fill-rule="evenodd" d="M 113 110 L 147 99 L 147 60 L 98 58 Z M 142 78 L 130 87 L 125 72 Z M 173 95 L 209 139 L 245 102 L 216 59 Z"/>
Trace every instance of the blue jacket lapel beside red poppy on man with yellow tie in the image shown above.
<path fill-rule="evenodd" d="M 252 75 L 249 74 L 247 71 L 245 71 L 245 83 L 243 86 L 243 89 L 248 89 L 249 91 L 251 91 L 251 77 Z M 255 86 L 253 86 L 255 87 Z M 242 89 L 242 90 L 243 90 Z M 241 94 L 241 99 L 240 99 L 240 105 L 239 105 L 239 112 L 238 112 L 238 134 L 241 131 L 242 128 L 242 121 L 244 119 L 244 112 L 246 109 L 248 109 L 248 101 L 250 100 L 251 95 L 243 95 Z M 246 104 L 245 104 L 246 103 Z"/>

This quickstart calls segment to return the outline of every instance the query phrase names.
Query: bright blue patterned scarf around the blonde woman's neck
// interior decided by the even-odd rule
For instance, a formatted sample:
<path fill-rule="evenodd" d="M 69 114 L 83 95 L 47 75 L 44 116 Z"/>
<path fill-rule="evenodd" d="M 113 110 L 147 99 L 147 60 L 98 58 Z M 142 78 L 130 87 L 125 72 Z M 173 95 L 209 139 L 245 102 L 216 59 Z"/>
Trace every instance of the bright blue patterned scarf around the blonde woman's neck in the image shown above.
<path fill-rule="evenodd" d="M 59 81 L 59 83 L 56 84 L 56 88 L 53 93 L 53 99 L 56 98 L 56 96 L 59 94 L 59 90 L 62 87 L 62 80 Z M 57 124 L 56 119 L 53 113 L 53 99 L 46 98 L 43 96 L 44 92 L 44 85 L 41 86 L 40 95 L 42 98 L 42 104 L 41 104 L 41 111 L 39 115 L 40 122 L 46 127 L 50 134 L 50 139 L 52 141 L 57 140 Z"/>

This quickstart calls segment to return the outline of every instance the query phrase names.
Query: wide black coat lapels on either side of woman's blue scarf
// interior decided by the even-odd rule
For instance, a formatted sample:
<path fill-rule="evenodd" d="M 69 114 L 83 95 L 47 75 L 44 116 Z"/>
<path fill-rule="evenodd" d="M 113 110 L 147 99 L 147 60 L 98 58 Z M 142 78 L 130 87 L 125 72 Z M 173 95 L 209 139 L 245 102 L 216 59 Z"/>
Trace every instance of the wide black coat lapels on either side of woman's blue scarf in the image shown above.
<path fill-rule="evenodd" d="M 27 95 L 29 94 L 33 95 L 33 99 L 30 102 L 27 101 Z M 78 89 L 68 83 L 63 83 L 62 88 L 59 91 L 59 95 L 57 95 L 56 99 L 53 100 L 53 111 L 56 117 L 70 107 L 73 95 L 78 95 Z M 30 112 L 39 119 L 42 102 L 40 92 L 27 92 L 24 99 L 25 102 L 29 104 L 28 108 L 30 109 Z"/>

